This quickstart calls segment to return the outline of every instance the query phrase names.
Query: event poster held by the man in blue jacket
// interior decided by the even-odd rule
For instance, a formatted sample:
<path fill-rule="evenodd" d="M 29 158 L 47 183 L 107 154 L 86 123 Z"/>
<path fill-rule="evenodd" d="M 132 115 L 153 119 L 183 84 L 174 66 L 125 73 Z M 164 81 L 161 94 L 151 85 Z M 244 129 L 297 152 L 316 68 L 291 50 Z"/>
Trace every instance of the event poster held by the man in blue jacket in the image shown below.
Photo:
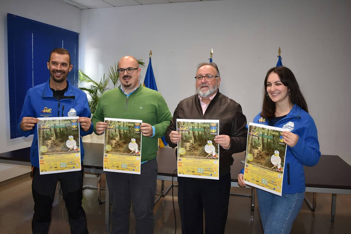
<path fill-rule="evenodd" d="M 77 117 L 38 118 L 40 174 L 80 171 Z"/>

